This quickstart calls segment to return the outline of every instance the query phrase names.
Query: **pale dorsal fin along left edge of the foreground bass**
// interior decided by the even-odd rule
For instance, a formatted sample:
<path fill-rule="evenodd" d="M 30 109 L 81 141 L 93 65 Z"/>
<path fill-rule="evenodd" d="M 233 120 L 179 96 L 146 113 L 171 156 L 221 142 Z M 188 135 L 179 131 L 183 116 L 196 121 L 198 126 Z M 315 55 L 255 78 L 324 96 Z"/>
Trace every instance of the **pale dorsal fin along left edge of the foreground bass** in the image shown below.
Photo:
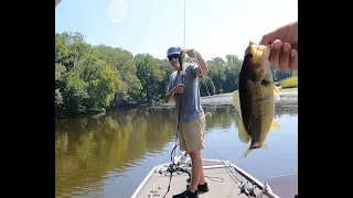
<path fill-rule="evenodd" d="M 239 100 L 239 91 L 235 90 L 233 95 L 233 106 L 236 111 L 236 120 L 238 121 L 238 136 L 239 140 L 244 143 L 249 142 L 249 135 L 244 127 L 243 118 L 242 118 L 242 110 L 240 110 L 240 100 Z"/>

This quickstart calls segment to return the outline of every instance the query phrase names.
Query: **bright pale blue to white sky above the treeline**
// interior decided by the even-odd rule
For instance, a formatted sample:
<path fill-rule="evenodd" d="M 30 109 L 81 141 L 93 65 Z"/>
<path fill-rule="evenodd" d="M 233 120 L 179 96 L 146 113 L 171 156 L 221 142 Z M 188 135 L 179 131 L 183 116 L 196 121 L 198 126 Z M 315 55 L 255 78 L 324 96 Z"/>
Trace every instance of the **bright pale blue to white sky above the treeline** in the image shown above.
<path fill-rule="evenodd" d="M 298 20 L 298 0 L 62 0 L 55 32 L 79 32 L 92 45 L 165 58 L 170 46 L 194 48 L 205 61 L 243 58 L 276 28 Z M 185 45 L 184 45 L 185 41 Z"/>

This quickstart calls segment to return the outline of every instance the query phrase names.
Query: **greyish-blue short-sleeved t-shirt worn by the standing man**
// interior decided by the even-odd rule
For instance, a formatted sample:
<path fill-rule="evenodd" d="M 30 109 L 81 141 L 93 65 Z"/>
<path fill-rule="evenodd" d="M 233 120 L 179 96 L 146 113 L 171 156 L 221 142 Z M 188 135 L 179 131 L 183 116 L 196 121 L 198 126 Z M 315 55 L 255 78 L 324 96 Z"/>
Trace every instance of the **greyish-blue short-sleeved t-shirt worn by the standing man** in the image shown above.
<path fill-rule="evenodd" d="M 196 75 L 195 69 L 197 68 L 196 64 L 185 64 L 185 73 L 179 74 L 178 70 L 173 72 L 170 75 L 168 90 L 170 92 L 178 84 L 184 84 L 184 91 L 180 94 L 175 92 L 175 109 L 176 118 L 180 110 L 180 98 L 181 98 L 181 114 L 180 122 L 185 123 L 194 119 L 200 118 L 203 113 L 203 109 L 200 102 L 200 89 L 199 89 L 199 76 Z"/>

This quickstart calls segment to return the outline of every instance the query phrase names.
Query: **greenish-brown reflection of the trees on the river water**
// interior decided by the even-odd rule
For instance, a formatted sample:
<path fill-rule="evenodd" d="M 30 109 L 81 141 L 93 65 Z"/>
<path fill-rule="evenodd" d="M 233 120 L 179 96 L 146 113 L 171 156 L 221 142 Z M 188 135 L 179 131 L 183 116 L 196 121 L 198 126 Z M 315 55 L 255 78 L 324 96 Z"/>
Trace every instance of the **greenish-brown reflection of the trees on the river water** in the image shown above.
<path fill-rule="evenodd" d="M 207 118 L 207 133 L 234 124 L 232 107 L 207 108 L 206 112 L 213 113 Z M 277 117 L 296 113 L 297 107 L 277 106 Z M 107 178 L 132 177 L 125 173 L 131 167 L 146 165 L 142 161 L 149 155 L 170 153 L 164 148 L 174 141 L 175 127 L 174 109 L 152 108 L 125 109 L 56 121 L 56 197 L 99 197 Z M 140 177 L 145 175 L 136 179 L 140 182 Z"/>

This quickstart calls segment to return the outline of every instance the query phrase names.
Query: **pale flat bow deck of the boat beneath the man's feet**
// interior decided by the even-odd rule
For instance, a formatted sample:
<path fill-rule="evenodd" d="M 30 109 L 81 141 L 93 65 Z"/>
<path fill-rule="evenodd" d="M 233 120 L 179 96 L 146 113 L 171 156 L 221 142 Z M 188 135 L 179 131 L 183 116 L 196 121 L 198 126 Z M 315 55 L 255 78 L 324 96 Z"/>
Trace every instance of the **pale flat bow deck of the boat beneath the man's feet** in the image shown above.
<path fill-rule="evenodd" d="M 169 173 L 167 172 L 168 165 L 169 164 L 164 164 L 152 169 L 132 195 L 132 198 L 162 198 L 165 195 L 169 185 Z M 264 185 L 260 182 L 227 161 L 203 160 L 203 166 L 210 191 L 201 194 L 201 198 L 252 197 L 240 193 L 240 182 L 245 183 L 249 189 L 253 188 L 256 196 L 259 196 L 263 191 Z M 165 175 L 165 173 L 168 174 Z M 185 190 L 188 178 L 189 176 L 186 173 L 173 173 L 170 191 L 167 194 L 165 198 L 171 198 L 173 195 Z M 153 186 L 154 189 L 157 189 L 154 195 L 151 193 Z M 260 197 L 268 198 L 265 194 Z M 295 196 L 290 196 L 289 198 L 293 197 Z"/>

